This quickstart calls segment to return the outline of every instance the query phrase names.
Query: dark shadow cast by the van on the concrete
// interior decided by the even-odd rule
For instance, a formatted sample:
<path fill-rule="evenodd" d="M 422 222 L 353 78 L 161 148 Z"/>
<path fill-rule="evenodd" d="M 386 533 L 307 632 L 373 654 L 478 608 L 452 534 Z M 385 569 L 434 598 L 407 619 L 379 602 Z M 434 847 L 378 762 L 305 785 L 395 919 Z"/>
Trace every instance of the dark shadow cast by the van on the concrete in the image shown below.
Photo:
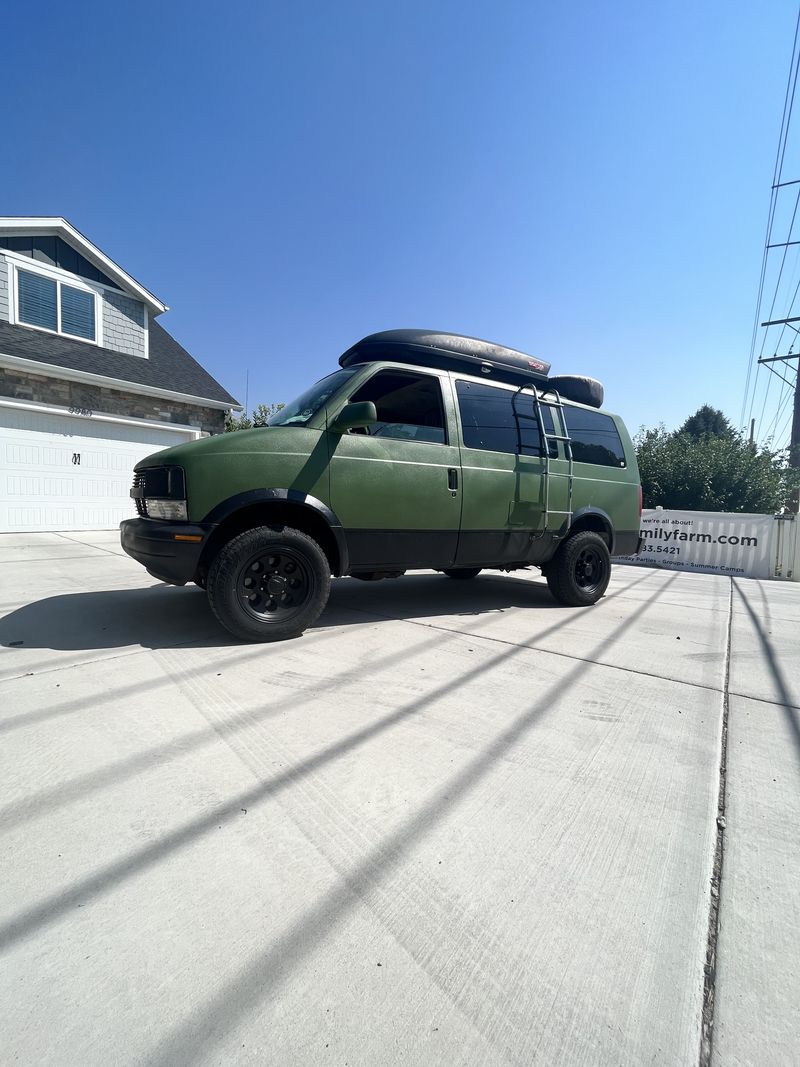
<path fill-rule="evenodd" d="M 373 619 L 481 616 L 509 608 L 555 608 L 547 587 L 503 575 L 471 582 L 419 574 L 385 582 L 336 578 L 320 624 Z M 566 610 L 566 609 L 565 609 Z M 219 625 L 196 586 L 64 593 L 26 604 L 0 619 L 0 646 L 87 651 L 138 644 L 147 649 L 241 644 Z"/>

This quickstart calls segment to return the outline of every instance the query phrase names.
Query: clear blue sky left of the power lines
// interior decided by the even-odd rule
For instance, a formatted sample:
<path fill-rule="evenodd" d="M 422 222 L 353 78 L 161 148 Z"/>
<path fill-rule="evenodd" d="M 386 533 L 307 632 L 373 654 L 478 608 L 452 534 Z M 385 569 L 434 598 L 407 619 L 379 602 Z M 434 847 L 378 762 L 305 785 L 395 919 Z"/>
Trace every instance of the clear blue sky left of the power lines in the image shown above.
<path fill-rule="evenodd" d="M 18 3 L 0 213 L 69 219 L 251 407 L 426 327 L 599 378 L 631 432 L 738 421 L 796 16 Z"/>

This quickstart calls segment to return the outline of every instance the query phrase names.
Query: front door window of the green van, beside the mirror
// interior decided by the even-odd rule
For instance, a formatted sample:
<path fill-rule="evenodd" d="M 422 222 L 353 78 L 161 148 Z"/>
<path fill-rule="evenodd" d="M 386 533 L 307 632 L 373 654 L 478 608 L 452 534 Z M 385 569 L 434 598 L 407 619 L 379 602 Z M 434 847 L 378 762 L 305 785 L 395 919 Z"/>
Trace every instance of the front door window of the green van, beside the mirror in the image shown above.
<path fill-rule="evenodd" d="M 447 443 L 442 386 L 431 375 L 381 370 L 350 397 L 352 402 L 371 400 L 378 423 L 363 433 L 399 441 Z"/>

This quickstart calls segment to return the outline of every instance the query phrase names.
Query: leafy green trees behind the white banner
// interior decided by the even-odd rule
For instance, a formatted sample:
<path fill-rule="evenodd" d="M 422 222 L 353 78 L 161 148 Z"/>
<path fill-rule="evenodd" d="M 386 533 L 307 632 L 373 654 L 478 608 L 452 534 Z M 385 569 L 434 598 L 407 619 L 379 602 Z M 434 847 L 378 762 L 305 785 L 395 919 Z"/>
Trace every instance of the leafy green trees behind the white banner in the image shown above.
<path fill-rule="evenodd" d="M 787 503 L 795 475 L 785 451 L 758 447 L 733 429 L 693 436 L 685 427 L 674 433 L 663 426 L 642 428 L 637 434 L 645 508 L 766 514 Z"/>

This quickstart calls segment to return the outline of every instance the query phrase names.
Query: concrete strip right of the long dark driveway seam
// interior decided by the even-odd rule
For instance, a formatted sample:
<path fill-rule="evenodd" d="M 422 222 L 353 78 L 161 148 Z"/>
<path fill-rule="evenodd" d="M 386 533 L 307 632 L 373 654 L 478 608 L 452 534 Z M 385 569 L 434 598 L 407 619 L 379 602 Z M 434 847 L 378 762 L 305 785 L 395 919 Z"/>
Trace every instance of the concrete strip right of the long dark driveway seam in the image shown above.
<path fill-rule="evenodd" d="M 800 587 L 733 584 L 714 1062 L 800 1063 Z"/>

